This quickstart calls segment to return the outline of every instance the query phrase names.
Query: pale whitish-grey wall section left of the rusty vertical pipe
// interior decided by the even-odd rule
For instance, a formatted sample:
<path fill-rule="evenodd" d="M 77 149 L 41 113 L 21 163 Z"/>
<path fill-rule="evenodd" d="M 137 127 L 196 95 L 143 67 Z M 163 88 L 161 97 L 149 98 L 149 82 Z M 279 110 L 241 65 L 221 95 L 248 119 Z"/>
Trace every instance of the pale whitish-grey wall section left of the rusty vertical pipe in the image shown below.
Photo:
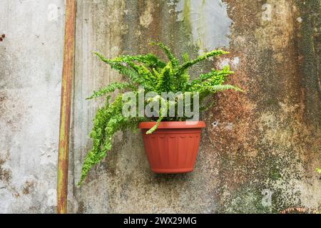
<path fill-rule="evenodd" d="M 0 213 L 54 212 L 63 2 L 0 0 Z"/>

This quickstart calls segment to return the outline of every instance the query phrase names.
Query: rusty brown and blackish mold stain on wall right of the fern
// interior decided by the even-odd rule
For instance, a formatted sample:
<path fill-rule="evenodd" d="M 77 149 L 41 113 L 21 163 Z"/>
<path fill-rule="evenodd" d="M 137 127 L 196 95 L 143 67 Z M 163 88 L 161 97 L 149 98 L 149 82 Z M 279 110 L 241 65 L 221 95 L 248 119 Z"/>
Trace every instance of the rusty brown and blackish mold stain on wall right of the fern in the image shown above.
<path fill-rule="evenodd" d="M 306 66 L 315 69 L 316 63 L 310 57 L 317 59 L 317 54 L 309 43 L 311 36 L 304 35 L 307 40 L 302 40 L 302 33 L 315 26 L 307 12 L 316 9 L 316 5 L 320 9 L 320 1 L 300 2 L 305 5 L 301 6 L 304 11 L 297 9 L 300 4 L 295 1 L 268 1 L 270 20 L 262 17 L 266 1 L 225 2 L 233 19 L 229 51 L 241 60 L 232 81 L 240 83 L 247 94 L 236 98 L 219 94 L 220 106 L 211 110 L 215 120 L 232 122 L 236 129 L 210 130 L 211 142 L 221 155 L 220 210 L 277 213 L 295 206 L 317 209 L 320 181 L 314 167 L 320 163 L 320 108 L 316 111 L 320 96 L 315 95 L 317 87 L 307 84 L 304 88 L 301 72 L 311 72 L 307 78 L 316 75 Z M 305 28 L 295 20 L 299 16 L 306 19 Z M 309 43 L 309 54 L 298 53 L 302 43 Z M 297 61 L 300 58 L 306 65 Z M 305 90 L 310 93 L 302 93 Z M 305 102 L 302 94 L 314 104 Z M 307 117 L 305 109 L 311 109 L 313 115 Z M 272 192 L 272 202 L 267 207 L 261 204 L 264 190 Z"/>

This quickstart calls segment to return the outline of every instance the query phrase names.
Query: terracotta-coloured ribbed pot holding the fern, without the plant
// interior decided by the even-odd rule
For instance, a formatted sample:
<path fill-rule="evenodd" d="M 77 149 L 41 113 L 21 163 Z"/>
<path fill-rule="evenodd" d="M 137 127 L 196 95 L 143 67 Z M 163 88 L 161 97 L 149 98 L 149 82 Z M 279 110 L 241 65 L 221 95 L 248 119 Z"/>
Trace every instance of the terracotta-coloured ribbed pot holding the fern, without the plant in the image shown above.
<path fill-rule="evenodd" d="M 138 125 L 151 170 L 156 173 L 182 173 L 194 170 L 203 121 L 161 122 L 150 135 L 155 122 Z"/>

